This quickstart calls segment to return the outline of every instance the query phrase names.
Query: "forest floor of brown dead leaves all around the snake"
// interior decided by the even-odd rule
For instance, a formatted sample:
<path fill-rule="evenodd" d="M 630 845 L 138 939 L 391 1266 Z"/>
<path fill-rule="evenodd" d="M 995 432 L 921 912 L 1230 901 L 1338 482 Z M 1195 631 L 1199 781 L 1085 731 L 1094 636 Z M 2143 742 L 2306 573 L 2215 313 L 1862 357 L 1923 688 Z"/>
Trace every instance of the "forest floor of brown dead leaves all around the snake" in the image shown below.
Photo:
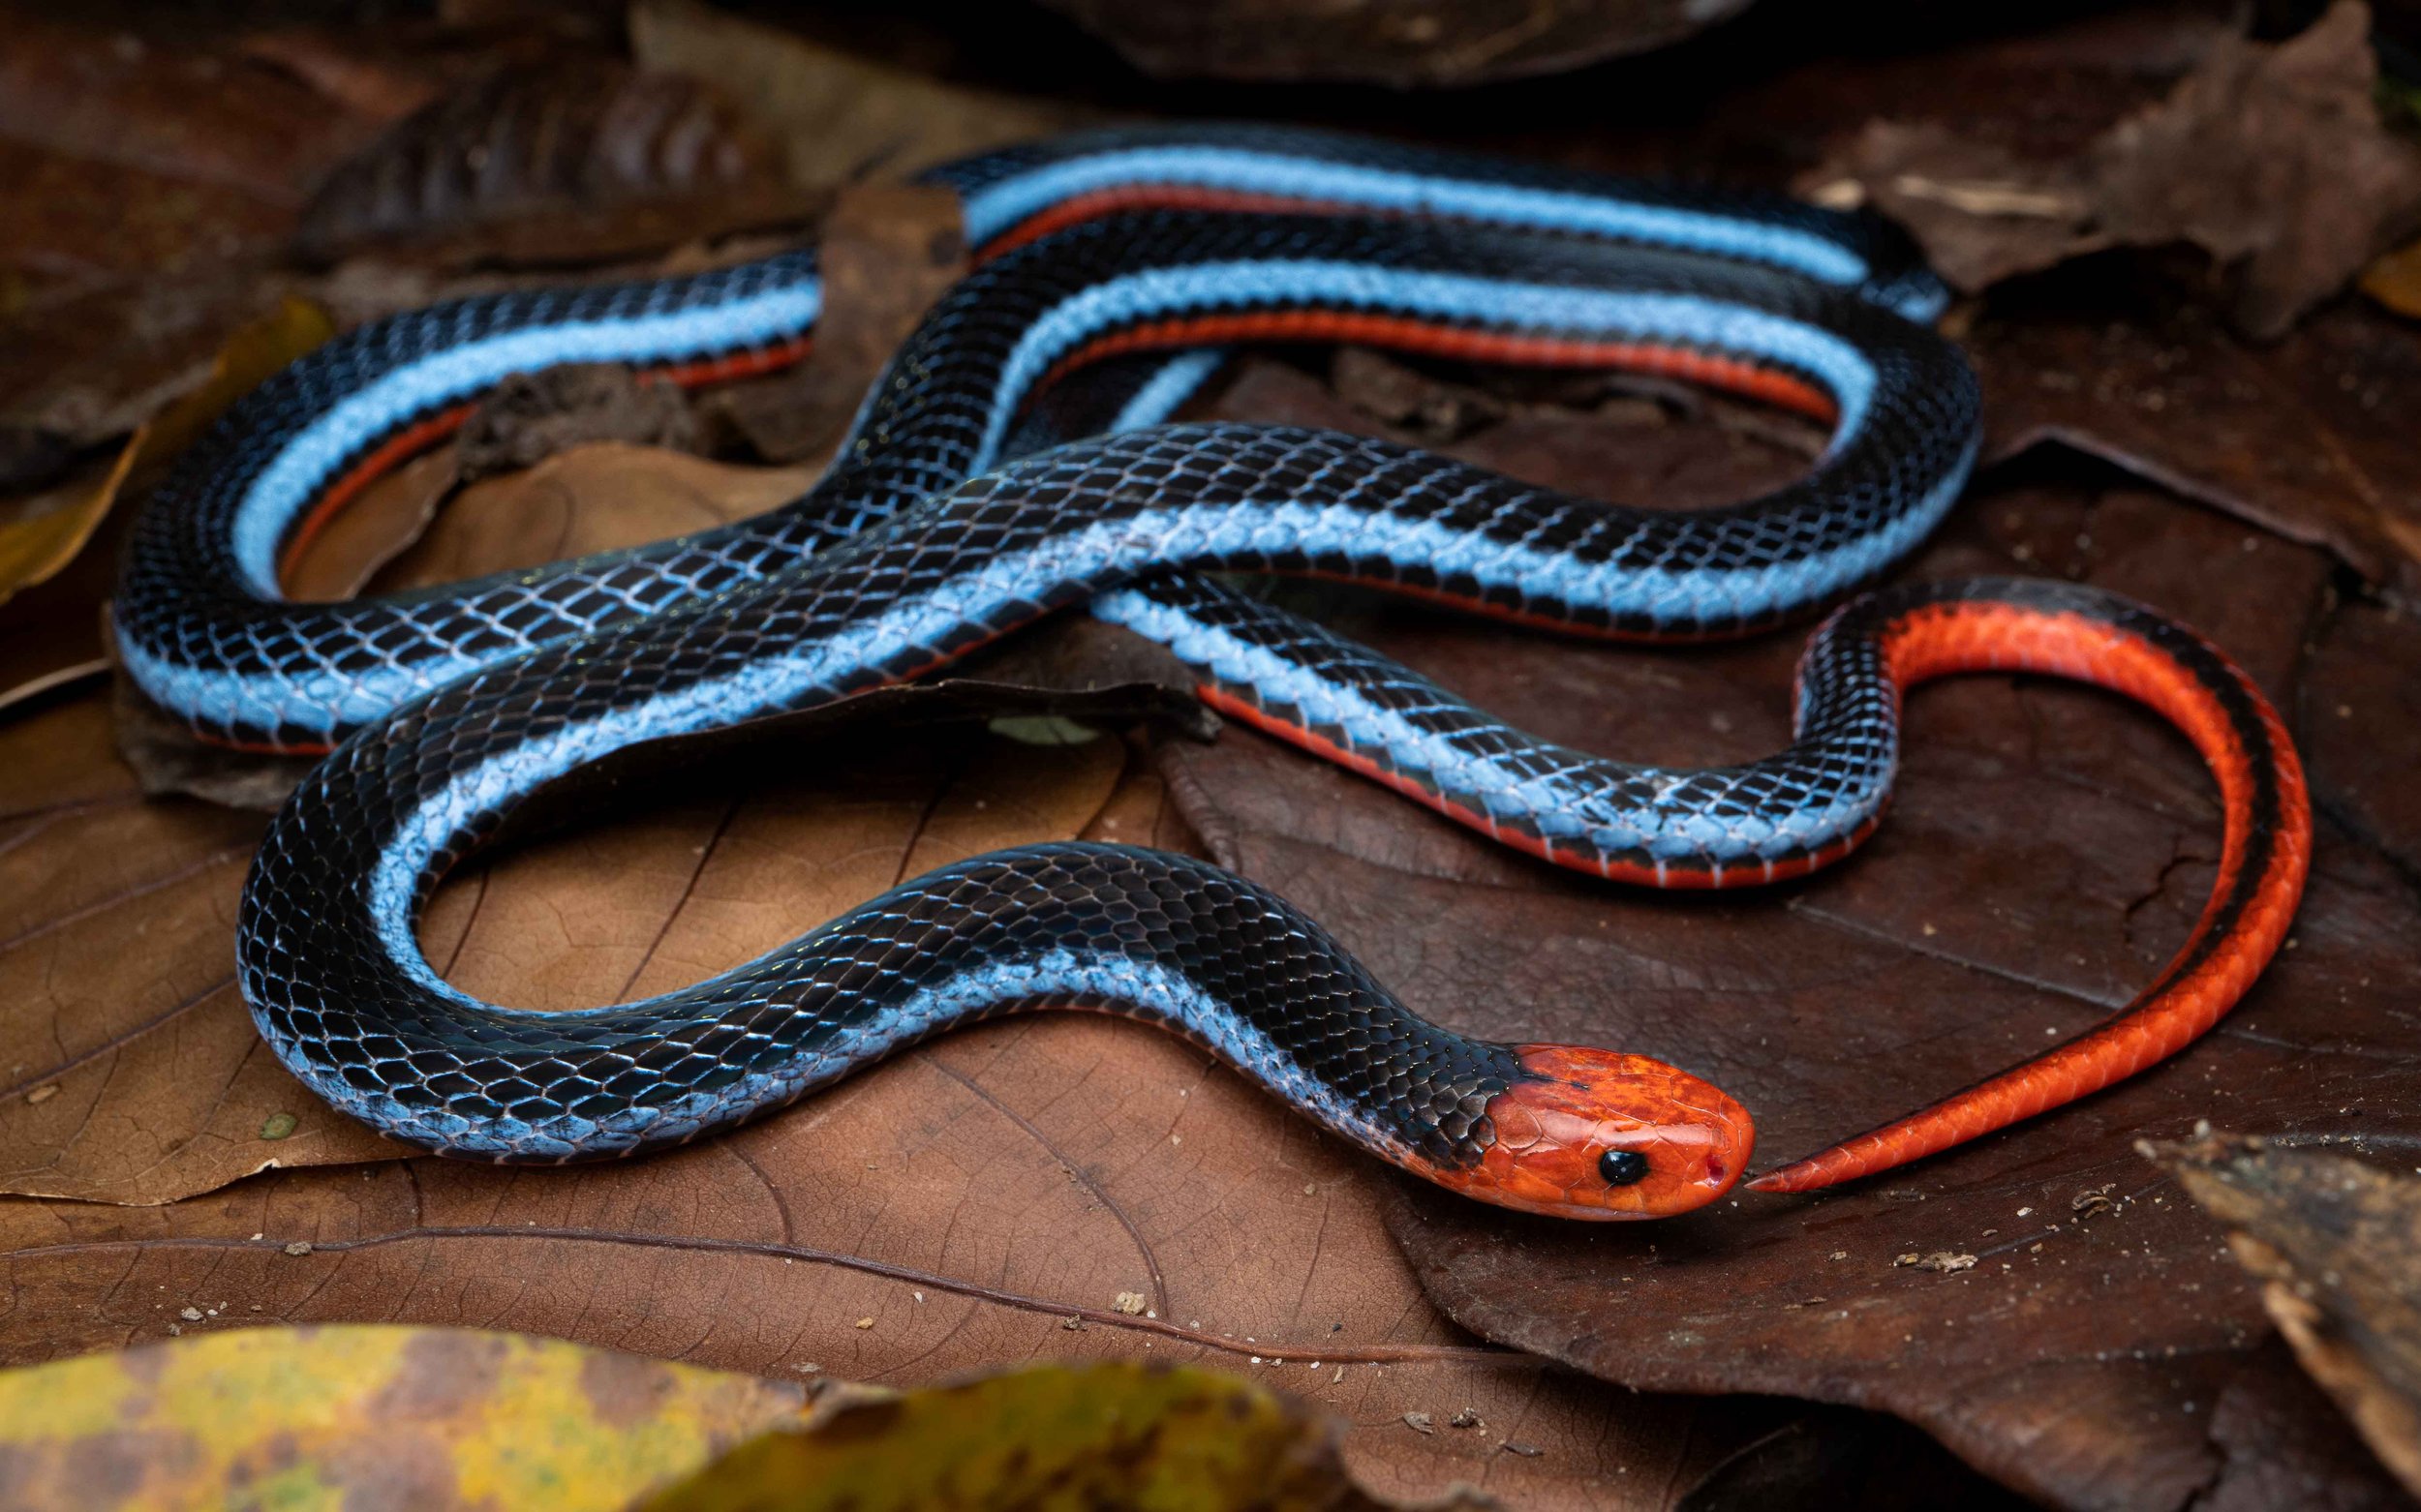
<path fill-rule="evenodd" d="M 2360 1224 L 2324 1217 L 2368 1181 L 2327 1161 L 2409 1171 L 2421 1149 L 2421 247 L 2394 252 L 2421 230 L 2421 92 L 2377 77 L 2358 5 L 2254 39 L 2227 7 L 1937 22 L 1888 51 L 1753 15 L 1428 94 L 1157 85 L 1041 12 L 951 31 L 925 7 L 458 10 L 0 10 L 0 1364 L 366 1321 L 794 1384 L 1160 1360 L 1332 1413 L 1380 1497 L 2402 1505 L 2380 1456 L 2402 1447 L 2409 1473 L 2409 1258 L 2387 1282 L 2363 1268 L 2414 1198 L 2365 1188 Z M 1586 1231 L 1419 1188 L 1203 1050 L 1089 1016 L 959 1033 L 731 1137 L 576 1171 L 419 1156 L 295 1084 L 232 973 L 293 769 L 182 745 L 107 663 L 123 525 L 184 440 L 380 314 L 821 235 L 830 324 L 804 368 L 540 394 L 373 486 L 288 585 L 443 583 L 736 520 L 816 477 L 964 266 L 951 203 L 905 174 L 1198 116 L 1753 181 L 1910 225 L 1961 290 L 1946 329 L 1988 438 L 1898 576 L 2128 593 L 2220 644 L 2295 731 L 2319 842 L 2247 1002 L 2172 1064 L 1884 1181 Z M 1244 353 L 1194 414 L 1658 508 L 1738 501 L 1823 448 L 1668 382 L 1358 348 Z M 1583 750 L 1712 764 L 1789 740 L 1799 631 L 1627 648 L 1302 602 Z M 588 1006 L 983 849 L 1157 844 L 1281 890 L 1443 1023 L 1707 1069 L 1755 1110 L 1760 1154 L 1789 1156 L 2123 1006 L 2218 868 L 2196 752 L 2048 680 L 1915 697 L 1891 818 L 1850 864 L 1656 898 L 1249 728 L 1213 738 L 1116 631 L 1046 627 L 968 677 L 922 706 L 956 719 L 792 731 L 472 864 L 421 924 L 429 958 L 494 1002 Z M 2140 1147 L 2203 1125 L 2266 1149 Z M 433 1379 L 455 1386 L 491 1367 L 448 1360 Z M 128 1485 L 160 1473 L 157 1444 L 111 1454 Z"/>

